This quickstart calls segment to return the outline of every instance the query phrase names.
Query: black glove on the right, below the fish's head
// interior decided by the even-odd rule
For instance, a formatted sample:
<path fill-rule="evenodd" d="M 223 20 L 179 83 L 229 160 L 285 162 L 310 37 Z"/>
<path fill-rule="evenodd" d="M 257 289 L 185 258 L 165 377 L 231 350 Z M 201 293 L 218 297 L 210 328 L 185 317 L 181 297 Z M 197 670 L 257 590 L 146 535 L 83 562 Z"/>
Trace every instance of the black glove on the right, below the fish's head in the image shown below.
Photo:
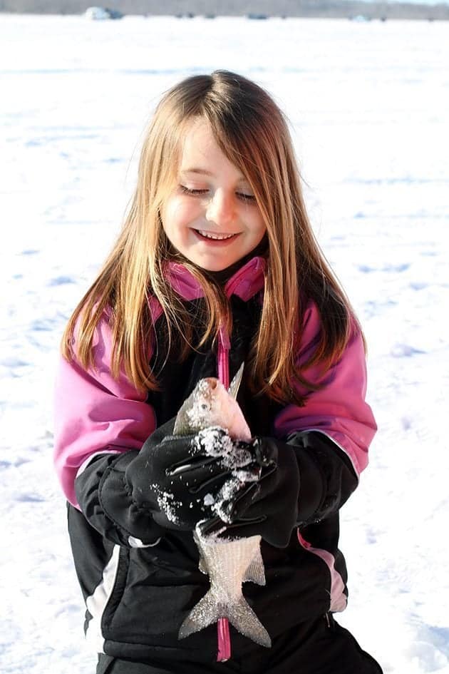
<path fill-rule="evenodd" d="M 223 501 L 219 516 L 201 526 L 204 534 L 222 529 L 221 538 L 259 535 L 279 548 L 289 544 L 297 523 L 299 466 L 294 448 L 272 438 L 255 438 L 252 451 L 261 466 L 260 477 Z M 225 491 L 226 486 L 223 488 Z"/>

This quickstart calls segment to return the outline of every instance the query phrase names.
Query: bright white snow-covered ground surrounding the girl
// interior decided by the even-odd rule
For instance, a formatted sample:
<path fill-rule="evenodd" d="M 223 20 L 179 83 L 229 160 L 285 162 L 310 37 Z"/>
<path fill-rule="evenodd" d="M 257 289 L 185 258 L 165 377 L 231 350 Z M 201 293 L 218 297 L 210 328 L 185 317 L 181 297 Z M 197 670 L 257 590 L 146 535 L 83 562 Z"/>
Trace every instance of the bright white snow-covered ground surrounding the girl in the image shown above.
<path fill-rule="evenodd" d="M 438 22 L 0 14 L 2 674 L 95 670 L 51 462 L 58 342 L 160 94 L 214 68 L 287 112 L 316 235 L 366 330 L 379 431 L 341 513 L 339 621 L 385 674 L 449 673 L 448 45 Z"/>

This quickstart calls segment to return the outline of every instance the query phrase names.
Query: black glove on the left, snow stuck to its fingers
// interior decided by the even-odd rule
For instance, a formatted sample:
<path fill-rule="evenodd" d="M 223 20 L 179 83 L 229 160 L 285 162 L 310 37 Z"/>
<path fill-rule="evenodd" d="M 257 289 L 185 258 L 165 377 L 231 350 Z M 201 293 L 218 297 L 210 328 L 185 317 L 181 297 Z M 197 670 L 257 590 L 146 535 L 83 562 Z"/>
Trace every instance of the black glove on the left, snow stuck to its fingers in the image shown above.
<path fill-rule="evenodd" d="M 210 455 L 205 432 L 173 436 L 174 419 L 158 427 L 125 471 L 133 501 L 166 529 L 195 529 L 215 513 L 212 504 L 229 479 L 221 447 L 234 443 L 224 429 L 214 429 L 216 451 Z M 210 430 L 210 429 L 209 429 Z"/>

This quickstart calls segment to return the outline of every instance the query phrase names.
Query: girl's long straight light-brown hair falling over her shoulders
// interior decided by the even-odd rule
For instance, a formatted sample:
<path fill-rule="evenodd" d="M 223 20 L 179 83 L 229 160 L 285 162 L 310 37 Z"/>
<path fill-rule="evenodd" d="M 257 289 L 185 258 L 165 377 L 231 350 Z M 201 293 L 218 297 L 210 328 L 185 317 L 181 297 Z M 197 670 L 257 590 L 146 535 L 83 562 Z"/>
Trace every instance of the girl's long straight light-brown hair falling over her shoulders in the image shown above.
<path fill-rule="evenodd" d="M 137 185 L 123 229 L 68 322 L 63 355 L 71 359 L 76 353 L 83 367 L 93 364 L 93 335 L 108 309 L 113 374 L 118 377 L 124 367 L 136 388 L 155 389 L 158 383 L 148 362 L 153 335 L 151 294 L 160 302 L 168 339 L 171 344 L 175 337 L 180 358 L 192 347 L 192 317 L 164 275 L 165 260 L 177 253 L 162 228 L 160 210 L 177 180 L 185 129 L 196 118 L 210 123 L 224 155 L 247 178 L 267 227 L 264 300 L 250 360 L 252 387 L 254 392 L 267 392 L 279 401 L 296 399 L 301 403 L 291 384 L 296 378 L 309 385 L 295 364 L 303 298 L 316 302 L 321 317 L 319 343 L 307 367 L 319 364 L 326 372 L 341 356 L 351 325 L 357 321 L 314 238 L 284 114 L 263 88 L 229 71 L 186 78 L 162 97 L 145 134 Z M 207 273 L 189 260 L 182 259 L 182 263 L 205 292 L 207 320 L 202 344 L 217 335 L 223 320 L 230 327 L 229 302 Z"/>

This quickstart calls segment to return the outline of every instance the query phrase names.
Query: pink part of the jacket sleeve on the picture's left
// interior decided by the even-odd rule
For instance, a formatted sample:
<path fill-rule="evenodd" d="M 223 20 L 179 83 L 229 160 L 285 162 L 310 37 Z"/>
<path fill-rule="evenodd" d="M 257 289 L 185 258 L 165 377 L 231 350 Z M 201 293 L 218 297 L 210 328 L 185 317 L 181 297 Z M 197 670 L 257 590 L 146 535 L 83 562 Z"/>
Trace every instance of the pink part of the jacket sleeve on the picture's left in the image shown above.
<path fill-rule="evenodd" d="M 78 507 L 74 482 L 94 454 L 140 449 L 155 429 L 153 408 L 124 372 L 110 372 L 111 330 L 103 315 L 93 342 L 95 367 L 61 357 L 55 390 L 54 461 L 68 501 Z"/>

